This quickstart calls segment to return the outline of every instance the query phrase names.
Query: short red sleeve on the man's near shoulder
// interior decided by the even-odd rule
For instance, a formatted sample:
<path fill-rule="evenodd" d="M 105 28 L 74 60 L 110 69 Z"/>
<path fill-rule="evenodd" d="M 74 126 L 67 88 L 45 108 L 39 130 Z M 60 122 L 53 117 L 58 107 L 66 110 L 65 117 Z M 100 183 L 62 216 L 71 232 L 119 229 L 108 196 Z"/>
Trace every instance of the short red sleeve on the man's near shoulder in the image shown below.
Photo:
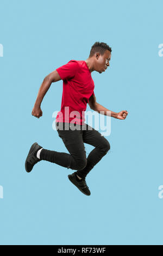
<path fill-rule="evenodd" d="M 79 64 L 77 60 L 70 60 L 67 64 L 60 66 L 56 69 L 62 80 L 71 79 L 76 75 L 76 72 L 79 70 Z"/>

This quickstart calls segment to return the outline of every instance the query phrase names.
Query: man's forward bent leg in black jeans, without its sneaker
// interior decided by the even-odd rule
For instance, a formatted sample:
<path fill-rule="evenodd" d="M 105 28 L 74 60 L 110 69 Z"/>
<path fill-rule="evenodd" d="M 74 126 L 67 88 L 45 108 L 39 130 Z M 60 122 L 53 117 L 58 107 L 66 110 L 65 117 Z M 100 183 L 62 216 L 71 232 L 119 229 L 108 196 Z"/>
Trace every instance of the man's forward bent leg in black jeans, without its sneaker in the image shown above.
<path fill-rule="evenodd" d="M 101 133 L 87 124 L 86 130 L 83 131 L 83 142 L 94 146 L 95 149 L 93 149 L 87 157 L 86 167 L 76 172 L 80 178 L 85 178 L 90 170 L 102 159 L 103 156 L 108 153 L 110 149 L 108 140 L 101 136 Z"/>

